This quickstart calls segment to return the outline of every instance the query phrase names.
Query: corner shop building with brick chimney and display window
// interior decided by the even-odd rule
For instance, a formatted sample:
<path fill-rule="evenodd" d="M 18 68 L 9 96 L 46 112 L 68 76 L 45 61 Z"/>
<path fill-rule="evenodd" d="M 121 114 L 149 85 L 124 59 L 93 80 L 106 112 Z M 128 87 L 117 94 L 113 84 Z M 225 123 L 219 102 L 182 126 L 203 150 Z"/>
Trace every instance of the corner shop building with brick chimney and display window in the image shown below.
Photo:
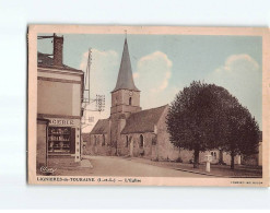
<path fill-rule="evenodd" d="M 84 73 L 63 64 L 63 37 L 48 37 L 54 38 L 52 57 L 37 52 L 37 167 L 45 164 L 44 150 L 48 157 L 75 161 L 81 152 Z"/>

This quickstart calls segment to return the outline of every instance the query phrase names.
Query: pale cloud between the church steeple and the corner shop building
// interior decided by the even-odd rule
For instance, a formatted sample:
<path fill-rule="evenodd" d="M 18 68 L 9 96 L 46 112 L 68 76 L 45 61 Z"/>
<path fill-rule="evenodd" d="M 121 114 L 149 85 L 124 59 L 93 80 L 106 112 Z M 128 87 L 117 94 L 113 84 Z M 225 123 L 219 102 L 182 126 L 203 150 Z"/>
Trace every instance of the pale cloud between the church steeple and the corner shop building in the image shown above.
<path fill-rule="evenodd" d="M 82 55 L 80 69 L 86 70 L 89 52 Z M 96 94 L 105 95 L 105 111 L 86 111 L 85 118 L 94 117 L 91 127 L 83 129 L 84 132 L 92 130 L 98 119 L 109 117 L 110 111 L 110 92 L 116 84 L 116 78 L 119 69 L 119 56 L 114 50 L 102 51 L 92 49 L 92 63 L 90 70 L 90 91 L 91 98 L 95 98 Z M 95 110 L 95 103 L 87 106 L 87 109 Z"/>

